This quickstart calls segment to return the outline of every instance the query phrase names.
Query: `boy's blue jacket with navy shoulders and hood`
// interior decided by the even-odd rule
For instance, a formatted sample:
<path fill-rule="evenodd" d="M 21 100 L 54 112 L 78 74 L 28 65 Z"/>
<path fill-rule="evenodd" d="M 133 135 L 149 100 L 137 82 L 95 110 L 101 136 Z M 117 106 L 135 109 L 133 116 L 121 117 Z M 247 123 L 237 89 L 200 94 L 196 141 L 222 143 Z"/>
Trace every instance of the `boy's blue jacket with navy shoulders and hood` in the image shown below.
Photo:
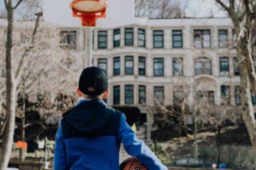
<path fill-rule="evenodd" d="M 138 139 L 125 115 L 101 99 L 82 100 L 63 114 L 55 138 L 54 170 L 119 170 L 119 148 L 148 170 L 167 170 Z"/>

